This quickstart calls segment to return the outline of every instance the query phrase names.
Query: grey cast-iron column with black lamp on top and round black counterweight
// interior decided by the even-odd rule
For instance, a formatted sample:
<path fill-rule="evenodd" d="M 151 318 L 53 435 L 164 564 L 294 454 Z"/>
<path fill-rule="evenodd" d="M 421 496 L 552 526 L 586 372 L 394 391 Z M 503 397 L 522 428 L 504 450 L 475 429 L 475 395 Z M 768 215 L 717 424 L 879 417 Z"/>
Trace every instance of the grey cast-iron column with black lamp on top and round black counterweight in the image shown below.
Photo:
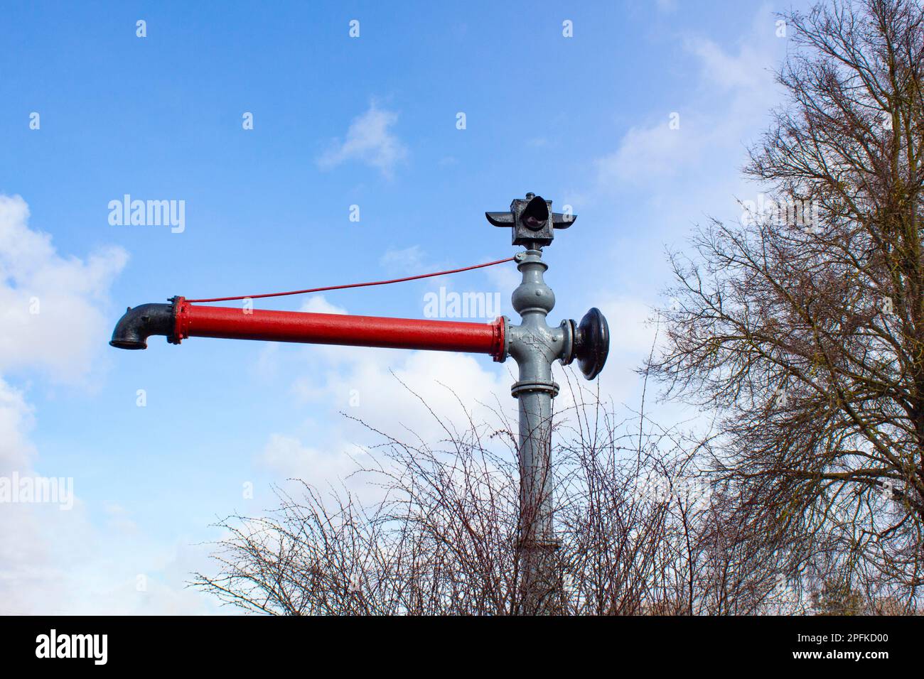
<path fill-rule="evenodd" d="M 531 193 L 517 199 L 510 212 L 487 212 L 495 226 L 512 226 L 513 244 L 526 247 L 515 259 L 523 280 L 512 303 L 522 319 L 505 328 L 506 352 L 519 368 L 511 394 L 519 400 L 519 571 L 517 612 L 535 615 L 558 610 L 561 574 L 556 567 L 558 541 L 553 527 L 552 399 L 558 384 L 552 364 L 577 358 L 587 379 L 602 370 L 609 348 L 609 330 L 598 309 L 590 309 L 580 324 L 546 322 L 555 306 L 552 288 L 543 274 L 542 246 L 552 243 L 554 229 L 567 228 L 575 215 L 552 212 L 552 201 Z"/>

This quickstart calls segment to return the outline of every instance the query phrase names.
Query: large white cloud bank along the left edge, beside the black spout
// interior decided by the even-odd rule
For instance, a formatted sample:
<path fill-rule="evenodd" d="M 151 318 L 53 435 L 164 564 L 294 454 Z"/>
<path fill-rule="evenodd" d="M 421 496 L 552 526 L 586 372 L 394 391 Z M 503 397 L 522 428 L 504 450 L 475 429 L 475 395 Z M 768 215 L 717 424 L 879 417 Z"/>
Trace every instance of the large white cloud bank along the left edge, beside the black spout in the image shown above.
<path fill-rule="evenodd" d="M 0 371 L 40 370 L 52 382 L 87 384 L 111 319 L 103 315 L 109 286 L 128 260 L 108 248 L 86 260 L 59 254 L 48 234 L 31 229 L 29 207 L 0 195 Z M 34 307 L 35 300 L 38 307 Z M 30 313 L 38 310 L 38 313 Z M 30 432 L 41 423 L 27 392 L 0 375 L 0 477 L 55 477 Z M 170 582 L 184 556 L 140 534 L 130 513 L 105 510 L 94 526 L 73 479 L 73 506 L 0 503 L 0 613 L 211 612 L 213 605 L 182 587 L 158 583 L 147 592 L 138 575 L 152 562 Z"/>

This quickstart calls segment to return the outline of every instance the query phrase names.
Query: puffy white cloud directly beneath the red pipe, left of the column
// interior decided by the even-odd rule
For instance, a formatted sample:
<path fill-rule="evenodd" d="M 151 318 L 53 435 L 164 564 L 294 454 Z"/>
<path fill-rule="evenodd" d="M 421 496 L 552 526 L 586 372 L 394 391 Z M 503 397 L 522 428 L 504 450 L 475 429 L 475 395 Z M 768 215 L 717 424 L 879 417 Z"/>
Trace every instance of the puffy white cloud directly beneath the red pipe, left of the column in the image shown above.
<path fill-rule="evenodd" d="M 475 422 L 496 425 L 490 409 L 498 400 L 506 416 L 516 422 L 517 402 L 510 397 L 515 378 L 506 370 L 516 373 L 513 361 L 505 364 L 505 370 L 494 370 L 465 354 L 302 348 L 289 355 L 297 360 L 287 364 L 286 370 L 298 375 L 293 392 L 299 401 L 312 406 L 312 417 L 271 435 L 258 456 L 262 465 L 283 478 L 302 479 L 319 488 L 344 483 L 364 500 L 377 497 L 380 491 L 368 478 L 350 475 L 359 466 L 383 462 L 374 447 L 383 439 L 350 418 L 407 443 L 432 446 L 447 438 L 444 427 L 468 430 L 467 411 Z"/>

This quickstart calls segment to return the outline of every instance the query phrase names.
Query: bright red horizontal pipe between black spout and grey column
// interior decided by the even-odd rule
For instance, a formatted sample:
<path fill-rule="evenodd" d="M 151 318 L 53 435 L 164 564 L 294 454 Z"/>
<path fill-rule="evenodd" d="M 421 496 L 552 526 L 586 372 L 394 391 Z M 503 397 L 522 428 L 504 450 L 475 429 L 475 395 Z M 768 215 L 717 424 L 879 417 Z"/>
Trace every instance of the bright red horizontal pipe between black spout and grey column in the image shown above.
<path fill-rule="evenodd" d="M 420 321 L 300 311 L 205 307 L 176 300 L 177 340 L 187 337 L 465 351 L 504 357 L 504 320 Z"/>

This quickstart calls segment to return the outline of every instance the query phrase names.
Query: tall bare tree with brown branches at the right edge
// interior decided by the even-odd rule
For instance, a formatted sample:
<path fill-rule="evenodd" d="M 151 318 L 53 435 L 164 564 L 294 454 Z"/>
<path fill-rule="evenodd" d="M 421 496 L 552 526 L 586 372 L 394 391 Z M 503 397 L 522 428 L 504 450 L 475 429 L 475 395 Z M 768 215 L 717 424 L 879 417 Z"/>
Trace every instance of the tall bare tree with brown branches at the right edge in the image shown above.
<path fill-rule="evenodd" d="M 716 544 L 769 545 L 784 579 L 816 594 L 894 590 L 911 606 L 924 584 L 924 9 L 838 0 L 785 19 L 786 103 L 746 167 L 773 210 L 744 203 L 740 223 L 713 221 L 692 256 L 670 255 L 676 301 L 648 370 L 723 418 L 712 468 L 739 518 Z"/>

